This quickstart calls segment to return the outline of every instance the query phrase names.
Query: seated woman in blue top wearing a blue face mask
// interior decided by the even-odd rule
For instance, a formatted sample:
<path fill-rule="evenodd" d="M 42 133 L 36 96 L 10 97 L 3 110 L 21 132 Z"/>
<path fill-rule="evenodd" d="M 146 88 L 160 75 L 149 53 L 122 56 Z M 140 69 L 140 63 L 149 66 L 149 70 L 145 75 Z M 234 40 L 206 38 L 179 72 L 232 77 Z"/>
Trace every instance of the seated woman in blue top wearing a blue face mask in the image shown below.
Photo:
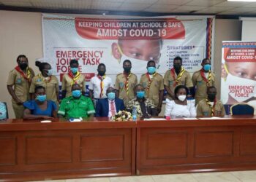
<path fill-rule="evenodd" d="M 45 87 L 34 88 L 35 100 L 23 103 L 25 107 L 23 119 L 49 119 L 57 117 L 57 106 L 52 100 L 46 100 Z"/>

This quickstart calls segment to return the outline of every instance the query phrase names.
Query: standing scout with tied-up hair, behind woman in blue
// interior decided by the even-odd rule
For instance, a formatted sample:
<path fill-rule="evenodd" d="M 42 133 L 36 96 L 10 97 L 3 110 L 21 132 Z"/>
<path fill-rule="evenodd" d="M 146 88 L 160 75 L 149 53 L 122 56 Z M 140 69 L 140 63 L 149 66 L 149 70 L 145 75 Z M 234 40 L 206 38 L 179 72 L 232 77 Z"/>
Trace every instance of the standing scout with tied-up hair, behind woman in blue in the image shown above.
<path fill-rule="evenodd" d="M 41 85 L 45 87 L 46 99 L 53 100 L 56 106 L 59 106 L 59 81 L 56 76 L 53 76 L 53 69 L 49 63 L 41 63 L 39 61 L 36 61 L 36 66 L 39 68 L 40 73 L 32 79 L 29 90 L 31 98 L 35 98 L 35 87 Z"/>

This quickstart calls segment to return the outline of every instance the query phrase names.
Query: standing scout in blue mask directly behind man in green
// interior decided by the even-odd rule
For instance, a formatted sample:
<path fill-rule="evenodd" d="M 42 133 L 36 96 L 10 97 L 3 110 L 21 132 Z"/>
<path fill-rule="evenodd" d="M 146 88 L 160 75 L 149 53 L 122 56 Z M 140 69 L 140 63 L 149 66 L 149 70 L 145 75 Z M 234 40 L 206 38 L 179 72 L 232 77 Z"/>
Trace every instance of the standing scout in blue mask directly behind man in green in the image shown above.
<path fill-rule="evenodd" d="M 69 62 L 70 71 L 64 74 L 62 78 L 62 98 L 66 98 L 72 95 L 71 86 L 72 84 L 79 84 L 82 88 L 82 94 L 85 94 L 86 90 L 86 79 L 83 74 L 80 74 L 78 60 L 70 60 Z"/>

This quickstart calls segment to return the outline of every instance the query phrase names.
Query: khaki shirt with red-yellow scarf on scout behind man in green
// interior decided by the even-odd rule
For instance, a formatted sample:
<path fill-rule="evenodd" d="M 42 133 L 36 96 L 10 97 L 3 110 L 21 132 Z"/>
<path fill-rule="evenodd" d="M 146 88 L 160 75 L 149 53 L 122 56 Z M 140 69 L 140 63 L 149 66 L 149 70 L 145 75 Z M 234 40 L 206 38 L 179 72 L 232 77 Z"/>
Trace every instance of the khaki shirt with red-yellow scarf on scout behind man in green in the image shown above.
<path fill-rule="evenodd" d="M 71 87 L 72 84 L 79 84 L 82 91 L 86 92 L 86 79 L 83 76 L 83 74 L 80 74 L 79 72 L 77 75 L 73 76 L 72 73 L 64 74 L 62 77 L 62 87 L 61 90 L 66 90 L 66 98 L 72 95 Z"/>

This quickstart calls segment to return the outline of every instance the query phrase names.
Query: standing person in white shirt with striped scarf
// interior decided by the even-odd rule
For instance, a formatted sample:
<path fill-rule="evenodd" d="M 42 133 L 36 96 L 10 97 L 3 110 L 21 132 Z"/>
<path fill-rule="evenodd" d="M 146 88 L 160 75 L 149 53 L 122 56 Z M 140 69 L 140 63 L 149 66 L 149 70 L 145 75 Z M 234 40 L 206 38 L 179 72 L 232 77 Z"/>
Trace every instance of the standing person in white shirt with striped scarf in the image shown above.
<path fill-rule="evenodd" d="M 112 79 L 106 76 L 106 66 L 100 63 L 98 66 L 98 74 L 91 78 L 89 84 L 89 96 L 91 100 L 94 100 L 94 106 L 97 106 L 97 101 L 101 98 L 106 98 L 106 91 L 108 87 L 113 87 Z"/>

